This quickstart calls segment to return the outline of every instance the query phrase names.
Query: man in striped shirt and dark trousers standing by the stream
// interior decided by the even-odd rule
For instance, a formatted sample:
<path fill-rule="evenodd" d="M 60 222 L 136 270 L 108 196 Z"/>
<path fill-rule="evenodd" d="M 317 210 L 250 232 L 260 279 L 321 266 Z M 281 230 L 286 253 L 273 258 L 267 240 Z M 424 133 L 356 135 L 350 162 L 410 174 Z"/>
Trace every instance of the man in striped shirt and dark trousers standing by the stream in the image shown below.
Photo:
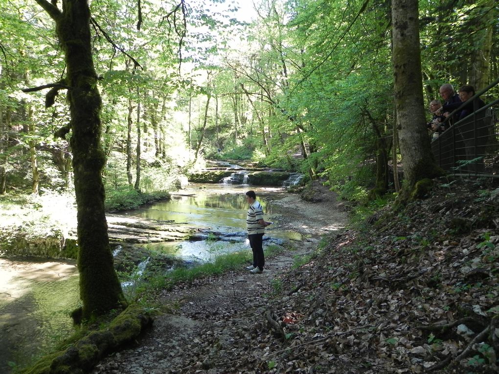
<path fill-rule="evenodd" d="M 256 201 L 256 194 L 254 191 L 246 192 L 246 201 L 250 204 L 248 209 L 248 216 L 246 218 L 246 227 L 248 229 L 248 239 L 250 240 L 250 247 L 253 251 L 253 264 L 248 266 L 251 274 L 263 273 L 263 266 L 265 265 L 265 258 L 263 257 L 263 234 L 265 227 L 271 222 L 266 222 L 263 219 L 263 210 L 258 201 Z"/>

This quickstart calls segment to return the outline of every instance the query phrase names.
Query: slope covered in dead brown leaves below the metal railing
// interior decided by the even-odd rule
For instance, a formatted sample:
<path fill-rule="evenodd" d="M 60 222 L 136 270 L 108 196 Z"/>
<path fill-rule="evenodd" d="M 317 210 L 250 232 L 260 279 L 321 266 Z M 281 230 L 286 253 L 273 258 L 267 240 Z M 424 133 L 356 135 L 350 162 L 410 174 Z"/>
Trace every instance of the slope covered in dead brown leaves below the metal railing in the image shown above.
<path fill-rule="evenodd" d="M 499 189 L 443 185 L 282 276 L 262 372 L 497 373 Z"/>

